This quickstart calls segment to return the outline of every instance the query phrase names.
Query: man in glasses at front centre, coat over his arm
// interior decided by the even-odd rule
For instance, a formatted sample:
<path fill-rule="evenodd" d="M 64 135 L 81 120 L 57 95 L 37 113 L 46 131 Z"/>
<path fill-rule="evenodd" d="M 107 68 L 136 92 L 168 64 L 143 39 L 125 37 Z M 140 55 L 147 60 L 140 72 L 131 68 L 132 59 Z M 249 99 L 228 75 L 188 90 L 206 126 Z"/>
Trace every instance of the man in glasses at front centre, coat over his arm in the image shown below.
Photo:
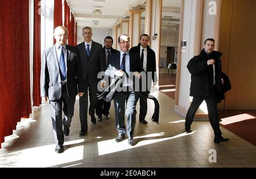
<path fill-rule="evenodd" d="M 114 94 L 115 107 L 115 127 L 118 131 L 118 137 L 115 141 L 119 142 L 125 139 L 125 114 L 127 116 L 127 136 L 129 145 L 134 145 L 134 127 L 136 123 L 136 103 L 138 94 L 134 90 L 133 78 L 141 78 L 139 72 L 143 71 L 139 55 L 136 52 L 129 52 L 130 38 L 122 34 L 118 38 L 120 52 L 110 55 L 108 59 L 108 69 L 105 74 L 109 77 L 122 77 L 122 90 L 116 90 Z M 125 109 L 126 103 L 126 109 Z"/>

